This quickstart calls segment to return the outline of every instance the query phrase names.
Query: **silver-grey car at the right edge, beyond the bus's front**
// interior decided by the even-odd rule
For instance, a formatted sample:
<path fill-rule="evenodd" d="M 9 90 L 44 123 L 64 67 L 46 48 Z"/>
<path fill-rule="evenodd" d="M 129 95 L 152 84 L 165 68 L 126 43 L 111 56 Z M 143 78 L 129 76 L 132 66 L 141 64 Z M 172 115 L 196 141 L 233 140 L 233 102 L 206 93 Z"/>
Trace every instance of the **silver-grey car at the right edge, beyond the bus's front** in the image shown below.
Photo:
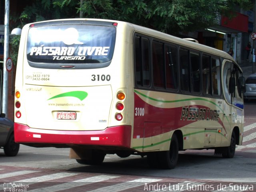
<path fill-rule="evenodd" d="M 246 92 L 244 99 L 256 99 L 256 74 L 251 74 L 245 81 Z"/>

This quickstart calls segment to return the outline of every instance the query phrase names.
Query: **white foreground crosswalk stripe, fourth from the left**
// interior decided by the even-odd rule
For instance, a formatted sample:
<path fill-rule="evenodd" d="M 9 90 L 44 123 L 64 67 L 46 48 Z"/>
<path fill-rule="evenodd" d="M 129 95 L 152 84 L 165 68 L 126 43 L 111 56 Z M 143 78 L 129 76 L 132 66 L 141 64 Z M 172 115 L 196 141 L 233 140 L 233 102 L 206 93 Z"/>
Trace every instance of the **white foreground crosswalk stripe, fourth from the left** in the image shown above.
<path fill-rule="evenodd" d="M 88 192 L 99 192 L 99 191 L 111 191 L 111 192 L 118 192 L 118 191 L 123 191 L 127 190 L 130 188 L 135 188 L 138 186 L 145 185 L 146 183 L 152 183 L 152 182 L 158 182 L 161 181 L 162 179 L 149 179 L 149 178 L 141 178 L 141 179 L 136 179 L 128 182 L 122 182 L 118 183 L 115 185 L 110 185 L 102 188 L 98 188 L 95 190 L 91 190 Z"/>

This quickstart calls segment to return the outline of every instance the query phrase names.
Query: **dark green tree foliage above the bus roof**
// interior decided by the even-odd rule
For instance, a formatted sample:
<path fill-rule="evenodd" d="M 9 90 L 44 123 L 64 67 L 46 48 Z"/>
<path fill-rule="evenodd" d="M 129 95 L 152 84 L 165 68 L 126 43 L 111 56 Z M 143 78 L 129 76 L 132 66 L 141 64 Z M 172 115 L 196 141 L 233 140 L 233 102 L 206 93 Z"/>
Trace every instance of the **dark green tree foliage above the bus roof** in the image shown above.
<path fill-rule="evenodd" d="M 168 34 L 204 29 L 219 15 L 234 16 L 236 8 L 249 10 L 251 0 L 23 0 L 20 15 L 12 14 L 12 27 L 60 18 L 102 18 L 130 22 Z M 12 42 L 14 41 L 14 42 Z M 17 47 L 17 39 L 10 44 Z M 15 51 L 13 51 L 15 53 Z"/>

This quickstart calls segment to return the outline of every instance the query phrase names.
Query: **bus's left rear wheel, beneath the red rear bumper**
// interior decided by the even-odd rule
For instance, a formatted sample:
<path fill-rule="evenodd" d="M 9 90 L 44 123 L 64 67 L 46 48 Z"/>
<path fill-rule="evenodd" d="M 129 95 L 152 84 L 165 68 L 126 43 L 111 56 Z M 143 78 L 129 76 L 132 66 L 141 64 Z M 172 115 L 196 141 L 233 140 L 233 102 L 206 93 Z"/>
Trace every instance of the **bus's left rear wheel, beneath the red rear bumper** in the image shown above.
<path fill-rule="evenodd" d="M 87 159 L 76 159 L 76 162 L 79 164 L 87 164 L 87 165 L 99 165 L 102 164 L 105 153 L 101 150 L 92 150 L 90 154 L 88 154 Z"/>

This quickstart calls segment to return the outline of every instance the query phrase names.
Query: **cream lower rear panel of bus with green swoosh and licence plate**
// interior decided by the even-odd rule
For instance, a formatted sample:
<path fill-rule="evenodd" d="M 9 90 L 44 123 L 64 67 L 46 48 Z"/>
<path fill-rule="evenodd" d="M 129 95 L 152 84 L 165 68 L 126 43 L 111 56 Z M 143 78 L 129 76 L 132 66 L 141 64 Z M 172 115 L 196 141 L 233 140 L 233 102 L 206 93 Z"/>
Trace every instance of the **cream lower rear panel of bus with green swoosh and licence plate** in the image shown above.
<path fill-rule="evenodd" d="M 49 130 L 104 130 L 108 127 L 110 85 L 54 87 L 25 85 L 16 122 Z"/>

